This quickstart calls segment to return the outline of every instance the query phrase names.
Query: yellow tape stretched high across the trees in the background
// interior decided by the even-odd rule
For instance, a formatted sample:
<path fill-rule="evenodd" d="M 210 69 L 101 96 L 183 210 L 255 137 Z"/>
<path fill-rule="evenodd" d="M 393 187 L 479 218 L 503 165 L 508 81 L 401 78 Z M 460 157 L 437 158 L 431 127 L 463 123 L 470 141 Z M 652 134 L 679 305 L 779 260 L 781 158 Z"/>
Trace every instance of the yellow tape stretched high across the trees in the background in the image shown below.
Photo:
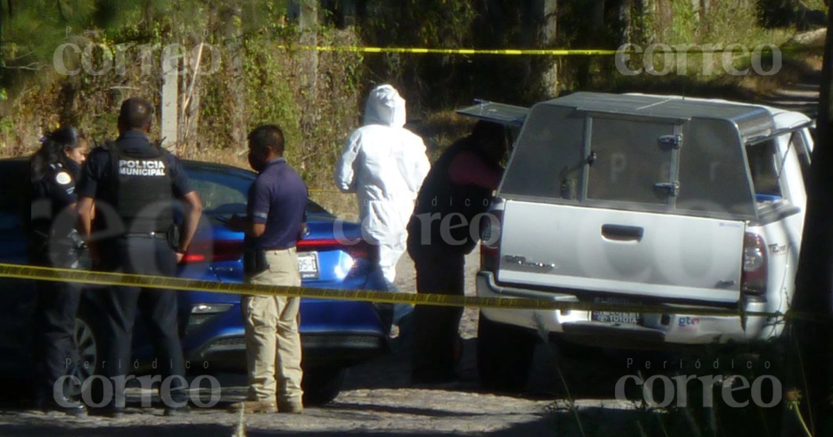
<path fill-rule="evenodd" d="M 427 47 L 361 47 L 361 46 L 277 46 L 285 50 L 314 50 L 317 52 L 361 52 L 361 53 L 414 53 L 414 54 L 440 54 L 440 55 L 497 55 L 497 56 L 611 56 L 616 54 L 645 54 L 649 47 L 652 53 L 662 52 L 676 53 L 722 53 L 722 52 L 753 52 L 750 48 L 741 44 L 730 44 L 731 49 L 726 47 L 712 47 L 708 44 L 652 44 L 640 47 L 640 50 L 630 49 L 567 49 L 567 48 L 427 48 Z M 765 48 L 768 47 L 768 48 Z M 774 44 L 765 44 L 761 52 L 771 52 L 777 49 L 779 52 L 823 52 L 824 47 L 816 46 L 788 46 L 777 47 Z"/>

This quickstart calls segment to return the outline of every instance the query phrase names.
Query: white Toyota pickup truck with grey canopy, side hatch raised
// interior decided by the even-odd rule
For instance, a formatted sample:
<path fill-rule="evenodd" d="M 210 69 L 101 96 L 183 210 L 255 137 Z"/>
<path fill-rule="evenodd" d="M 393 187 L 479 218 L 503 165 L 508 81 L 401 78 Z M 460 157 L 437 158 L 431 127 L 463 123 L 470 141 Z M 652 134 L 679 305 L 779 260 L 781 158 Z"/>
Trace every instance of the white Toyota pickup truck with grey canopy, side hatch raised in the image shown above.
<path fill-rule="evenodd" d="M 662 349 L 781 335 L 789 309 L 811 120 L 713 99 L 576 92 L 524 110 L 460 111 L 520 127 L 481 223 L 481 297 L 661 305 L 628 311 L 482 309 L 481 380 L 525 378 L 534 331 L 580 345 Z"/>

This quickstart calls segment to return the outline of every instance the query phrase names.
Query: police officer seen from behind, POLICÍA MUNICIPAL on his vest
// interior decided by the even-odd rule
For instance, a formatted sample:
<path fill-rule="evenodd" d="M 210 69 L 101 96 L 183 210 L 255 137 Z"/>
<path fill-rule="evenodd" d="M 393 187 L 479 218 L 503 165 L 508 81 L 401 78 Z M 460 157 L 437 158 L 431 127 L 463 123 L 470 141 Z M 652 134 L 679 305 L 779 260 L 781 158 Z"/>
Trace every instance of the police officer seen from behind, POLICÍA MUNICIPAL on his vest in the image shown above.
<path fill-rule="evenodd" d="M 102 270 L 176 276 L 177 262 L 182 261 L 197 230 L 202 203 L 189 186 L 177 157 L 148 141 L 152 115 L 150 103 L 143 99 L 123 102 L 118 117 L 119 137 L 92 151 L 78 183 L 82 234 L 92 236 L 93 256 L 100 260 Z M 181 229 L 174 224 L 172 210 L 177 200 L 184 208 Z M 90 214 L 93 205 L 97 211 L 95 226 Z M 122 286 L 96 295 L 101 296 L 106 309 L 101 374 L 114 389 L 114 399 L 102 413 L 122 415 L 124 390 L 119 377 L 133 369 L 130 347 L 137 310 L 160 363 L 157 370 L 162 387 L 170 378 L 170 392 L 161 393 L 165 414 L 187 412 L 175 291 Z"/>

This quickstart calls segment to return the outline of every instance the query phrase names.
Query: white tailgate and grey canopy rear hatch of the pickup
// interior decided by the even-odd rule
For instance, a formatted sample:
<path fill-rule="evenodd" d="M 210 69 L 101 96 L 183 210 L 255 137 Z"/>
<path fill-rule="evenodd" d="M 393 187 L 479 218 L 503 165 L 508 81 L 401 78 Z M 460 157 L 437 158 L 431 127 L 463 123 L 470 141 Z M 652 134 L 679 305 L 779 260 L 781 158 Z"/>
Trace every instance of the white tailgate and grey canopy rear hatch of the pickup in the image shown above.
<path fill-rule="evenodd" d="M 691 125 L 534 107 L 498 193 L 496 280 L 584 298 L 737 302 L 738 210 L 754 215 L 743 152 L 716 146 L 731 126 Z"/>

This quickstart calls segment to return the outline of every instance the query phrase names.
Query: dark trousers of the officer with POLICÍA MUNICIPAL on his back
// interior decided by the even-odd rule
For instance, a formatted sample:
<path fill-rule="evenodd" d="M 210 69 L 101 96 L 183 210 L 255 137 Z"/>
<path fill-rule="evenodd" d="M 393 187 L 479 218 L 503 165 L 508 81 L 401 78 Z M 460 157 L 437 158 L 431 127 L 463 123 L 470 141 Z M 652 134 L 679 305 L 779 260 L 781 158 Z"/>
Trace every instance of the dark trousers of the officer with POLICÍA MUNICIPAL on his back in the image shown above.
<path fill-rule="evenodd" d="M 107 243 L 102 257 L 114 262 L 107 270 L 122 273 L 154 276 L 176 276 L 177 259 L 164 238 L 127 237 Z M 107 265 L 105 265 L 107 267 Z M 133 324 L 137 311 L 147 327 L 157 360 L 155 375 L 165 380 L 171 388 L 161 393 L 176 402 L 187 400 L 185 360 L 179 341 L 176 291 L 142 289 L 138 287 L 113 287 L 111 291 L 97 292 L 104 308 L 104 335 L 101 375 L 113 383 L 113 378 L 130 375 L 134 370 L 131 357 Z M 122 407 L 124 393 L 113 383 L 114 397 L 110 406 Z"/>

